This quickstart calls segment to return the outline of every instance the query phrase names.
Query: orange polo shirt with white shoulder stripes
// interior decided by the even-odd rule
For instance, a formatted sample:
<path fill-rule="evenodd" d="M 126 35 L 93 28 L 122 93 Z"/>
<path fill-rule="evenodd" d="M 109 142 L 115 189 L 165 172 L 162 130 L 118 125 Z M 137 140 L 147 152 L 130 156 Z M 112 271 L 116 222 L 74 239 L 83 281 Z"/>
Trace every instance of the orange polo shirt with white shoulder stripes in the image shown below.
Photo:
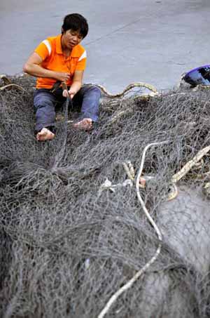
<path fill-rule="evenodd" d="M 67 86 L 71 86 L 74 72 L 85 70 L 87 54 L 85 48 L 78 44 L 73 47 L 71 55 L 65 58 L 62 53 L 61 37 L 62 34 L 57 37 L 48 37 L 37 46 L 34 52 L 43 59 L 41 66 L 45 69 L 71 74 L 71 78 L 66 82 Z M 37 77 L 36 88 L 52 88 L 55 82 L 56 79 Z"/>

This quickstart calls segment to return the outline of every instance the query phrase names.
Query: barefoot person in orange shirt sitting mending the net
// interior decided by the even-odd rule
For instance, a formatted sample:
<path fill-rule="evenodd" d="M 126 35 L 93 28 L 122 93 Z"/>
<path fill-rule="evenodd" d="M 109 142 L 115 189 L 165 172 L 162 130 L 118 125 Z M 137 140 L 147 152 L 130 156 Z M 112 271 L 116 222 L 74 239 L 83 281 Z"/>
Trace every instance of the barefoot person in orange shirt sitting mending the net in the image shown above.
<path fill-rule="evenodd" d="M 99 117 L 101 91 L 97 86 L 82 86 L 87 55 L 80 41 L 87 32 L 88 24 L 83 15 L 66 15 L 62 33 L 42 41 L 23 67 L 24 72 L 36 77 L 34 108 L 37 140 L 55 138 L 55 106 L 62 105 L 68 96 L 73 105 L 80 102 L 80 118 L 73 124 L 75 128 L 90 130 Z M 62 82 L 68 91 L 62 91 Z"/>

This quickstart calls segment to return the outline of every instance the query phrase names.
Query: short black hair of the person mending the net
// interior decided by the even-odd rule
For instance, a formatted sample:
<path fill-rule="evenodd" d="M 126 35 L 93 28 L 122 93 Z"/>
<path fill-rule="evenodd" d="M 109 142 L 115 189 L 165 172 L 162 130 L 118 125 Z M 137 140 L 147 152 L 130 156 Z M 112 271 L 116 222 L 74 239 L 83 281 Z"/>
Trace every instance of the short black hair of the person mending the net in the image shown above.
<path fill-rule="evenodd" d="M 87 20 L 79 13 L 71 13 L 65 16 L 64 23 L 62 25 L 62 34 L 68 29 L 78 31 L 81 36 L 86 37 L 88 32 Z"/>

